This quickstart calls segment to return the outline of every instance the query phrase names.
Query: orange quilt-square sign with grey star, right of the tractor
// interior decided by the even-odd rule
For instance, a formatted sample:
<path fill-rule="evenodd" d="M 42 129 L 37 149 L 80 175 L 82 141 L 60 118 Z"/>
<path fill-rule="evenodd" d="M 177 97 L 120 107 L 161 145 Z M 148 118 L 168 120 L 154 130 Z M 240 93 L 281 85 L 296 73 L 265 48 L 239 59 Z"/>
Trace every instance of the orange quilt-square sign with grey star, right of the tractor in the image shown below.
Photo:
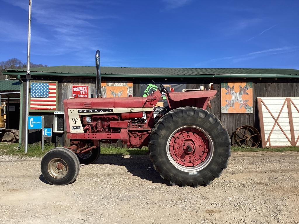
<path fill-rule="evenodd" d="M 252 113 L 252 82 L 221 83 L 221 113 Z"/>

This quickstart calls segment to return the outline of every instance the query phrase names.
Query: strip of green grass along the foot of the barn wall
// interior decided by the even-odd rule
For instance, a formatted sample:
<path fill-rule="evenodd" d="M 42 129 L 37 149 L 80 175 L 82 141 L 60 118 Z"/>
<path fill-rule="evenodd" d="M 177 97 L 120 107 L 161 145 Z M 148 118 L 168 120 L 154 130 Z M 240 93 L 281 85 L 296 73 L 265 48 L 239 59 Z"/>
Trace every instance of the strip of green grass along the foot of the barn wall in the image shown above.
<path fill-rule="evenodd" d="M 28 152 L 25 154 L 24 147 L 18 149 L 18 143 L 4 143 L 0 142 L 0 155 L 10 155 L 17 157 L 43 157 L 50 149 L 54 148 L 54 145 L 45 144 L 44 151 L 39 144 L 28 145 Z M 272 152 L 286 152 L 286 151 L 299 151 L 298 146 L 289 146 L 283 148 L 243 148 L 239 146 L 232 146 L 232 152 L 260 152 L 260 151 L 272 151 Z M 120 147 L 102 147 L 101 155 L 144 155 L 148 152 L 147 147 L 139 148 L 120 148 Z"/>

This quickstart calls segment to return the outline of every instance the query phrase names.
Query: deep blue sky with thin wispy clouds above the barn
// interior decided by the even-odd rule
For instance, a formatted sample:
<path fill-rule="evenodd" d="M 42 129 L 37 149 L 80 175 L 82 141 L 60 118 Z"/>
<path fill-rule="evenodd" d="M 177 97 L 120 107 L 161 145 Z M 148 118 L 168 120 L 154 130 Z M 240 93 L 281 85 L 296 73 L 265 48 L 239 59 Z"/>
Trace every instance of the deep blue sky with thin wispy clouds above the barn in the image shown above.
<path fill-rule="evenodd" d="M 32 0 L 31 62 L 299 69 L 299 1 Z M 27 0 L 0 0 L 0 61 L 26 62 Z"/>

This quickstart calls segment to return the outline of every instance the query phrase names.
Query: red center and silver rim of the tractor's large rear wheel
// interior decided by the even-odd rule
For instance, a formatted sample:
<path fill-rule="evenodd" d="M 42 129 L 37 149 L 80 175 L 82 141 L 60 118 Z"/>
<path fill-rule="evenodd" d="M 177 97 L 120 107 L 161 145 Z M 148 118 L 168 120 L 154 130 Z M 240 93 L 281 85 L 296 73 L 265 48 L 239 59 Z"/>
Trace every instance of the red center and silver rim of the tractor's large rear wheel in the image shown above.
<path fill-rule="evenodd" d="M 188 125 L 173 131 L 168 138 L 166 152 L 172 165 L 190 173 L 202 170 L 210 163 L 214 145 L 205 130 Z"/>

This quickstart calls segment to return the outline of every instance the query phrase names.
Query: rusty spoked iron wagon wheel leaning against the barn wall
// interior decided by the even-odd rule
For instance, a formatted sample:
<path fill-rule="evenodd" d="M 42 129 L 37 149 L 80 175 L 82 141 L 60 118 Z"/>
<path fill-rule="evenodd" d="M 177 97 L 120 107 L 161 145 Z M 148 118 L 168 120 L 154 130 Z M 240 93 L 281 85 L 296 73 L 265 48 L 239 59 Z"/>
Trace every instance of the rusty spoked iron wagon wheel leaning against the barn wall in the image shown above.
<path fill-rule="evenodd" d="M 239 127 L 234 134 L 234 138 L 236 144 L 242 147 L 255 148 L 261 141 L 259 131 L 250 125 Z"/>

